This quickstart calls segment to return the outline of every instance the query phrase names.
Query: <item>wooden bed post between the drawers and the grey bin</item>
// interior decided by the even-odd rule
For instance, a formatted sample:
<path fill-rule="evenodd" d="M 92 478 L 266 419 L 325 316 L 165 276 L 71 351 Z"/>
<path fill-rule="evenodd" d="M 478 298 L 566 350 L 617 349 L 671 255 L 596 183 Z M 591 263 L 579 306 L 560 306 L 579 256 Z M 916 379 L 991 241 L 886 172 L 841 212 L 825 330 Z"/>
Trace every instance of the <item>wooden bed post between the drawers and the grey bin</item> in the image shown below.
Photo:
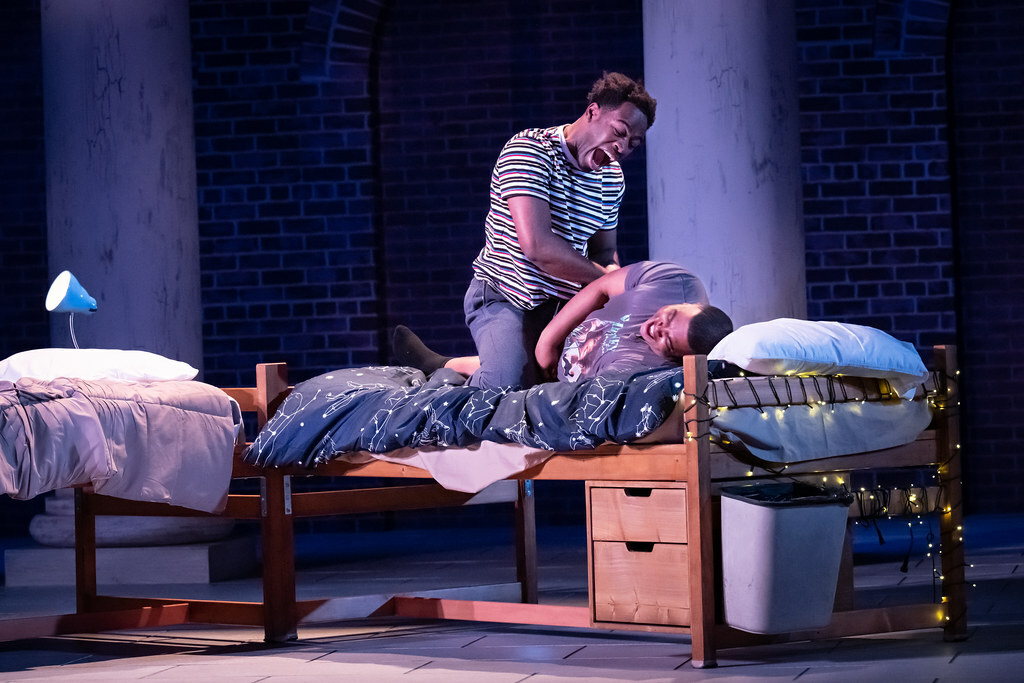
<path fill-rule="evenodd" d="M 715 651 L 715 552 L 711 501 L 711 442 L 708 408 L 708 357 L 683 358 L 686 449 L 686 525 L 689 545 L 691 664 L 718 665 Z"/>

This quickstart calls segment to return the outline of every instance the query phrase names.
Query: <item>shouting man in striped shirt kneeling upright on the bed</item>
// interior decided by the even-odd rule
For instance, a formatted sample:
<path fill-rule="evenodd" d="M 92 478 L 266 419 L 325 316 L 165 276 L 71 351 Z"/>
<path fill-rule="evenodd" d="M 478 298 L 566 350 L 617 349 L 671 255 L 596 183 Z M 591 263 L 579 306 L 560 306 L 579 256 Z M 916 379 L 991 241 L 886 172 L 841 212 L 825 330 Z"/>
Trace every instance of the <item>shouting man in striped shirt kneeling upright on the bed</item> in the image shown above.
<path fill-rule="evenodd" d="M 534 349 L 541 331 L 561 303 L 618 267 L 618 161 L 643 142 L 655 106 L 641 84 L 606 73 L 574 122 L 530 128 L 505 144 L 464 301 L 480 357 L 471 385 L 540 381 Z"/>

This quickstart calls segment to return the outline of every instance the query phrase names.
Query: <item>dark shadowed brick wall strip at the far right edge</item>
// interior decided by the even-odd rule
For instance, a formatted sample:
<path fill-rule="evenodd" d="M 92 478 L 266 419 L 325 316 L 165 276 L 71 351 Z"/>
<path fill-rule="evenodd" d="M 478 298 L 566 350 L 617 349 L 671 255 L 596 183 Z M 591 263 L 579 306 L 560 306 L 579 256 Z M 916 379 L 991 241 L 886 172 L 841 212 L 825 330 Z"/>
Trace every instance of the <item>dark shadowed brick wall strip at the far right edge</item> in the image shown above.
<path fill-rule="evenodd" d="M 954 3 L 956 243 L 971 509 L 1024 509 L 1024 5 Z"/>

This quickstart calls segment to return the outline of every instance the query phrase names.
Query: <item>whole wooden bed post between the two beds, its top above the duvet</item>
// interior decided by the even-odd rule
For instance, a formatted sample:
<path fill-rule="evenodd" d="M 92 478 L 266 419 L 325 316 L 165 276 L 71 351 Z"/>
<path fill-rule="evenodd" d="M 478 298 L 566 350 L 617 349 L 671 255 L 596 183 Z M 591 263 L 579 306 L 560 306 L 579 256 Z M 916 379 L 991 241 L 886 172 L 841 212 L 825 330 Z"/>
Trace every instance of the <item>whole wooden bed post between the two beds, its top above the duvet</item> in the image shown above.
<path fill-rule="evenodd" d="M 288 390 L 283 362 L 256 366 L 256 413 L 259 426 L 270 419 Z M 263 550 L 263 637 L 267 642 L 298 637 L 295 602 L 295 524 L 292 477 L 268 469 L 260 480 L 260 543 Z"/>

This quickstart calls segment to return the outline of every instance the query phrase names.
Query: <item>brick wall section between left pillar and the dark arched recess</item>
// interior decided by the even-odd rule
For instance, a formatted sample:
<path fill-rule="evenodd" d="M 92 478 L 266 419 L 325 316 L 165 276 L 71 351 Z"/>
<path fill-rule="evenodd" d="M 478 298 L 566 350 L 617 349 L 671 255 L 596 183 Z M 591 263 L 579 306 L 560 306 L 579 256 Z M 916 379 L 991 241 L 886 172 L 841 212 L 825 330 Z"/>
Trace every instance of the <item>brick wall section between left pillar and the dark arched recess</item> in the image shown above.
<path fill-rule="evenodd" d="M 358 5 L 358 11 L 348 8 Z M 206 378 L 378 362 L 380 3 L 190 3 Z"/>

